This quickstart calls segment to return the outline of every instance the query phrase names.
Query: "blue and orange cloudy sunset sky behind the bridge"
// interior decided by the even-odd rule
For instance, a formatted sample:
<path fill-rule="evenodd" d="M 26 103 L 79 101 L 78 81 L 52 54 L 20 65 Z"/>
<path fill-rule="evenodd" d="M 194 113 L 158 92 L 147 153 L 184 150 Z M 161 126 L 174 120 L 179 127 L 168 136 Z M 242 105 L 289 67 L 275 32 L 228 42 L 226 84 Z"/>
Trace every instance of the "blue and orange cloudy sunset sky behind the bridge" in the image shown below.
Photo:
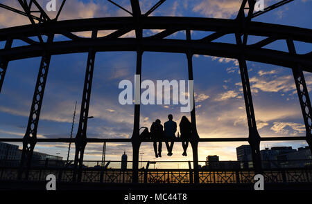
<path fill-rule="evenodd" d="M 39 1 L 44 6 L 48 1 Z M 116 0 L 117 3 L 131 11 L 130 1 Z M 141 10 L 146 12 L 157 1 L 141 0 Z M 276 3 L 265 0 L 266 6 Z M 17 1 L 1 0 L 1 3 L 21 9 Z M 155 16 L 189 16 L 215 17 L 234 19 L 239 10 L 239 0 L 167 0 L 153 15 Z M 60 0 L 57 0 L 60 6 Z M 254 18 L 272 24 L 284 24 L 311 28 L 311 0 L 295 0 L 276 10 Z M 55 12 L 49 12 L 51 17 Z M 64 6 L 60 20 L 92 17 L 128 16 L 127 12 L 116 8 L 108 1 L 69 0 Z M 26 17 L 19 16 L 0 8 L 0 28 L 29 24 Z M 157 30 L 146 30 L 144 36 L 152 35 Z M 105 35 L 107 33 L 101 33 Z M 87 37 L 89 33 L 77 33 Z M 206 34 L 207 35 L 207 34 Z M 123 37 L 132 37 L 128 33 Z M 193 32 L 192 38 L 205 36 L 203 32 Z M 61 40 L 61 37 L 56 39 Z M 169 38 L 185 39 L 185 33 L 175 33 Z M 233 42 L 234 35 L 227 35 L 216 41 Z M 248 44 L 257 41 L 250 37 Z M 0 48 L 4 43 L 0 42 Z M 13 46 L 21 42 L 14 41 Z M 295 42 L 297 53 L 311 51 L 310 44 Z M 266 48 L 287 51 L 284 41 L 276 41 Z M 46 84 L 38 138 L 69 138 L 71 120 L 75 102 L 78 101 L 74 136 L 78 127 L 81 95 L 87 53 L 56 55 L 52 57 L 49 79 Z M 133 105 L 121 105 L 118 98 L 122 91 L 118 89 L 121 80 L 134 82 L 136 53 L 107 52 L 97 53 L 94 68 L 87 137 L 89 138 L 130 138 L 133 127 Z M 26 131 L 28 115 L 35 89 L 35 80 L 40 65 L 40 57 L 10 62 L 6 79 L 0 95 L 0 137 L 22 138 Z M 193 57 L 193 74 L 196 92 L 196 113 L 200 138 L 235 138 L 248 137 L 248 126 L 241 88 L 241 77 L 236 59 L 224 59 L 211 56 L 195 55 Z M 304 122 L 299 100 L 293 83 L 291 69 L 248 62 L 252 97 L 260 136 L 287 137 L 305 136 Z M 311 73 L 304 73 L 308 89 L 312 89 Z M 144 53 L 142 80 L 187 80 L 186 55 L 172 53 Z M 311 92 L 310 92 L 311 94 Z M 166 122 L 166 115 L 172 113 L 175 121 L 180 122 L 183 113 L 180 105 L 146 105 L 141 106 L 141 127 L 159 118 Z M 189 115 L 187 115 L 189 117 Z M 205 160 L 208 155 L 218 155 L 220 160 L 236 160 L 236 147 L 244 142 L 210 142 L 200 143 L 199 159 Z M 21 143 L 17 143 L 21 148 Z M 306 142 L 261 142 L 261 149 L 273 146 L 304 147 Z M 71 158 L 74 154 L 72 145 Z M 180 143 L 175 143 L 173 156 L 166 156 L 163 146 L 163 157 L 157 160 L 192 160 L 191 147 L 187 157 L 182 156 Z M 60 156 L 66 159 L 67 144 L 37 143 L 35 151 Z M 152 144 L 141 146 L 143 160 L 155 160 Z M 107 143 L 107 160 L 120 160 L 126 151 L 132 160 L 132 148 L 128 143 Z M 101 160 L 102 145 L 88 144 L 86 160 Z M 141 159 L 141 158 L 140 158 Z M 180 165 L 181 167 L 181 165 Z"/>

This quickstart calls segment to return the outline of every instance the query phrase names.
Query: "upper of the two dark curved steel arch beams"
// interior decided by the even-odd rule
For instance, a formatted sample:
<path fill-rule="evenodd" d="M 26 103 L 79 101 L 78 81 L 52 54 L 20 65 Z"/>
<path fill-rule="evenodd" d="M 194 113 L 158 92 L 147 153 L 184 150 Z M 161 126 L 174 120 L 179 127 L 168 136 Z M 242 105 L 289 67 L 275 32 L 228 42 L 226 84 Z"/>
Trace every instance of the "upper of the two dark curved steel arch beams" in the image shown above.
<path fill-rule="evenodd" d="M 94 19 L 74 19 L 67 21 L 50 21 L 40 25 L 26 25 L 0 30 L 0 41 L 10 37 L 32 37 L 48 35 L 49 33 L 62 34 L 63 32 L 82 32 L 92 30 L 119 30 L 121 28 L 132 28 L 138 26 L 142 29 L 174 29 L 174 30 L 200 30 L 236 33 L 241 28 L 238 21 L 234 19 L 212 19 L 198 17 L 140 17 L 136 23 L 133 17 L 106 17 Z M 242 31 L 242 30 L 241 30 Z M 296 41 L 312 43 L 312 30 L 294 26 L 283 26 L 278 24 L 267 24 L 262 22 L 249 22 L 248 35 L 256 36 L 279 36 L 281 39 L 291 38 Z"/>

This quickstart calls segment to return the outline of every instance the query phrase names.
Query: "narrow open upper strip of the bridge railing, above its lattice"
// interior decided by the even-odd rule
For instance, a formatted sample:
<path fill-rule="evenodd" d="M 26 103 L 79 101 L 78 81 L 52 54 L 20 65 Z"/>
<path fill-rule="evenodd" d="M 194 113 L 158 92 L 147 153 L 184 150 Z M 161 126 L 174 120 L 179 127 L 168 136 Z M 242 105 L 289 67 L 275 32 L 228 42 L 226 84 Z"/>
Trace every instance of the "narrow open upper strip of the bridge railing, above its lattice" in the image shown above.
<path fill-rule="evenodd" d="M 252 169 L 252 161 L 198 161 L 200 169 Z M 20 160 L 0 160 L 0 167 L 19 167 Z M 261 160 L 263 169 L 312 167 L 312 160 Z M 31 167 L 73 168 L 73 160 L 32 160 Z M 83 168 L 122 169 L 120 160 L 84 160 Z M 132 161 L 125 163 L 125 169 L 132 169 Z M 192 169 L 189 160 L 140 160 L 139 169 Z"/>

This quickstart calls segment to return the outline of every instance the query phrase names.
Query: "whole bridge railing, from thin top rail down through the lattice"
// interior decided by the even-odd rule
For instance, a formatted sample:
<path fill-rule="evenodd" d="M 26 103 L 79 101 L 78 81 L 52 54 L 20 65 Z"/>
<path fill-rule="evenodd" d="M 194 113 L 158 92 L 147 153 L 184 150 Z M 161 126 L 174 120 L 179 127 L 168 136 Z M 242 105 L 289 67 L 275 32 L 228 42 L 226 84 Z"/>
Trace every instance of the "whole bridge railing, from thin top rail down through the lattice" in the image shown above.
<path fill-rule="evenodd" d="M 19 166 L 18 160 L 0 160 L 0 180 L 17 180 Z M 102 161 L 101 161 L 102 162 Z M 288 161 L 262 161 L 263 163 L 273 163 L 271 168 L 263 169 L 263 176 L 266 183 L 312 183 L 311 160 L 288 160 Z M 53 160 L 34 161 L 33 167 L 29 171 L 29 181 L 46 181 L 49 174 L 55 175 L 58 182 L 70 183 L 73 181 L 73 165 L 71 161 Z M 121 169 L 120 161 L 106 161 L 107 166 L 102 166 L 100 161 L 85 161 L 82 171 L 81 182 L 84 183 L 131 183 L 132 169 Z M 128 162 L 128 163 L 131 163 Z M 150 163 L 142 161 L 142 164 Z M 157 162 L 168 163 L 168 161 Z M 171 163 L 189 163 L 186 161 L 171 161 Z M 241 165 L 233 165 L 241 162 L 221 161 L 207 164 L 198 169 L 199 183 L 222 184 L 222 183 L 254 183 L 254 170 Z M 248 163 L 248 162 L 247 162 Z M 289 167 L 288 164 L 306 164 L 305 167 Z M 86 164 L 89 164 L 88 166 Z M 96 164 L 96 165 L 94 165 Z M 282 164 L 282 166 L 277 166 Z M 310 164 L 310 165 L 309 165 Z M 229 165 L 229 166 L 226 166 Z M 231 166 L 232 165 L 232 166 Z M 250 165 L 250 162 L 249 162 Z M 251 164 L 252 165 L 252 164 Z M 118 167 L 119 166 L 119 167 Z M 162 169 L 153 168 L 153 165 L 142 165 L 139 169 L 139 183 L 193 183 L 194 169 Z M 152 167 L 152 168 L 149 168 Z M 239 168 L 238 168 L 239 167 Z"/>

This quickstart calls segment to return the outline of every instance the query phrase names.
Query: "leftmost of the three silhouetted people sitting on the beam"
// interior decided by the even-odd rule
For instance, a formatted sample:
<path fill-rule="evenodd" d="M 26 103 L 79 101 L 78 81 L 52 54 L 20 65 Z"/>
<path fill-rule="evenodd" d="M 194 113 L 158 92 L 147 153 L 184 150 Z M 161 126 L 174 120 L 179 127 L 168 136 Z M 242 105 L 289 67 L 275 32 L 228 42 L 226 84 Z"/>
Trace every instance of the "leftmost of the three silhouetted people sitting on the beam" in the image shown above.
<path fill-rule="evenodd" d="M 162 138 L 164 135 L 162 124 L 160 124 L 160 120 L 157 119 L 153 122 L 152 126 L 150 127 L 150 134 L 154 141 L 154 151 L 156 158 L 162 157 Z M 158 154 L 157 154 L 157 141 L 158 141 Z"/>

